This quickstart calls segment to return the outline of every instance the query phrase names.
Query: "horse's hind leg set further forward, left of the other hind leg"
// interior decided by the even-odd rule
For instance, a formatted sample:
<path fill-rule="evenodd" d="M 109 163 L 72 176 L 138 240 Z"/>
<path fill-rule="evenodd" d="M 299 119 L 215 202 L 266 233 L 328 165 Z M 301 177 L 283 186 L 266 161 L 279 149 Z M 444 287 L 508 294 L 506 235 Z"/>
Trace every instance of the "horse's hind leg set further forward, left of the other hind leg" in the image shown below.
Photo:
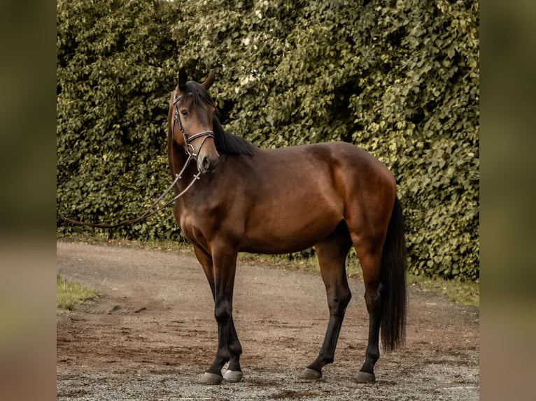
<path fill-rule="evenodd" d="M 327 305 L 330 308 L 330 321 L 327 324 L 320 353 L 302 372 L 300 375 L 302 379 L 319 379 L 322 376 L 322 368 L 334 360 L 344 313 L 351 298 L 345 269 L 346 255 L 351 245 L 344 222 L 339 224 L 329 237 L 315 245 L 318 263 L 320 263 L 320 274 L 327 293 Z"/>

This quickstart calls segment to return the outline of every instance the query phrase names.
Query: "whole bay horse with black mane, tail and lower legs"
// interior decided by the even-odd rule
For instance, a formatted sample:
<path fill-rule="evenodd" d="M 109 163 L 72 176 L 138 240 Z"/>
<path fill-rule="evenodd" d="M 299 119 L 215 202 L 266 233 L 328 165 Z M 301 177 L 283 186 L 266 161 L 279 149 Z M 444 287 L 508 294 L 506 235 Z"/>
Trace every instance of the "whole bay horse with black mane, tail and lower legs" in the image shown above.
<path fill-rule="evenodd" d="M 218 323 L 216 358 L 201 383 L 243 378 L 232 315 L 239 252 L 288 254 L 309 247 L 318 256 L 330 318 L 318 357 L 300 377 L 319 379 L 334 360 L 351 298 L 345 261 L 352 245 L 369 313 L 365 363 L 356 381 L 375 381 L 380 334 L 385 350 L 399 347 L 405 335 L 407 256 L 393 175 L 349 143 L 268 150 L 228 133 L 208 92 L 214 80 L 212 71 L 202 84 L 189 81 L 181 68 L 168 114 L 171 175 L 195 181 L 191 189 L 188 180 L 176 183 L 183 196 L 174 216 L 209 281 Z"/>

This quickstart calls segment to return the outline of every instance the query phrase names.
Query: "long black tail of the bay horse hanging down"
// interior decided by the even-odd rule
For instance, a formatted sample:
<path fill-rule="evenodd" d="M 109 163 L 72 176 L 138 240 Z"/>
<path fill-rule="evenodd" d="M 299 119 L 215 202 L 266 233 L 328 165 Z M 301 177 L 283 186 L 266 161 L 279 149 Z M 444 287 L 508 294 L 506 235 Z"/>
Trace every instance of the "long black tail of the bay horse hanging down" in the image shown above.
<path fill-rule="evenodd" d="M 380 331 L 381 345 L 386 351 L 400 347 L 406 335 L 406 268 L 404 219 L 396 197 L 381 254 L 383 306 Z"/>

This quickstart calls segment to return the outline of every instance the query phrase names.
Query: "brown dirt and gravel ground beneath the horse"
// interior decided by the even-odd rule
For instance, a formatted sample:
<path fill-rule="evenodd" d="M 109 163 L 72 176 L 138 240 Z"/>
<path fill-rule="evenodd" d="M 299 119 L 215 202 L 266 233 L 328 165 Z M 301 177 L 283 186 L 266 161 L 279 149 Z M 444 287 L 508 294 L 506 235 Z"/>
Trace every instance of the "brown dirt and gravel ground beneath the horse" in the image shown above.
<path fill-rule="evenodd" d="M 320 349 L 327 302 L 318 273 L 239 261 L 234 321 L 244 380 L 197 384 L 216 352 L 209 285 L 193 254 L 57 242 L 57 272 L 101 296 L 57 316 L 57 400 L 478 400 L 479 310 L 409 289 L 407 343 L 357 384 L 368 315 L 353 298 L 335 361 L 299 372 Z"/>

